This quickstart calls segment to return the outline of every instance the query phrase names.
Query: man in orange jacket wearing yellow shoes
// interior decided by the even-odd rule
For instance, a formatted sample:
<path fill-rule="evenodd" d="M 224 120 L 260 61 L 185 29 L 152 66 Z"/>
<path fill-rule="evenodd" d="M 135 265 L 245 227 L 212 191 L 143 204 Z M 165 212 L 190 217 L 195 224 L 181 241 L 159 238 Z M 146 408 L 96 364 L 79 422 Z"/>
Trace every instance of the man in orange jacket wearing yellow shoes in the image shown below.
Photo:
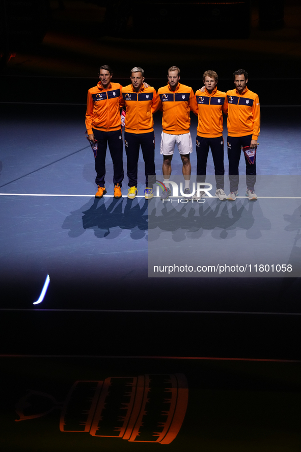
<path fill-rule="evenodd" d="M 127 197 L 134 199 L 138 182 L 138 159 L 141 146 L 145 164 L 144 196 L 151 199 L 153 184 L 156 182 L 155 172 L 155 134 L 152 108 L 156 99 L 156 91 L 152 86 L 145 86 L 144 70 L 134 67 L 131 70 L 131 84 L 122 88 L 125 102 L 124 143 L 127 157 L 128 192 Z"/>

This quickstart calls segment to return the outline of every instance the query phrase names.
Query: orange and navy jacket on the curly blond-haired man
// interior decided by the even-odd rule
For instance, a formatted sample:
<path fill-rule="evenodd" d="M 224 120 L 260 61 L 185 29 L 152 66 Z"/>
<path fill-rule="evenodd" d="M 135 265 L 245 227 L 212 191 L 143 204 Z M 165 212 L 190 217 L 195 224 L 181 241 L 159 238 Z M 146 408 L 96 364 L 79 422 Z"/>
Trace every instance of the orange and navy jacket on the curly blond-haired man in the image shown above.
<path fill-rule="evenodd" d="M 204 93 L 198 90 L 195 95 L 198 115 L 198 135 L 205 138 L 217 138 L 223 135 L 223 112 L 226 93 L 217 91 L 215 87 L 210 94 L 207 89 Z"/>

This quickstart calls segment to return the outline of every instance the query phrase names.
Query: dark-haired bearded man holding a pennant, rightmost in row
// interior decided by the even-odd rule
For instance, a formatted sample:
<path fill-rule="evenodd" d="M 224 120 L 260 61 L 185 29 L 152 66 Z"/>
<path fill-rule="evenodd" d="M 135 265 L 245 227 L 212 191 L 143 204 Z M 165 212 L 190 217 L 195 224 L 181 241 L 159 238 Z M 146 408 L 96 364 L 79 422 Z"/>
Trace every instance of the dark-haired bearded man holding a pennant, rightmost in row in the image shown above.
<path fill-rule="evenodd" d="M 241 155 L 241 147 L 250 146 L 251 150 L 257 149 L 257 140 L 260 132 L 260 107 L 259 98 L 247 88 L 248 72 L 239 69 L 233 73 L 235 89 L 227 91 L 224 104 L 224 112 L 228 115 L 228 158 L 230 194 L 228 199 L 234 201 L 238 195 L 238 165 Z M 246 196 L 250 200 L 257 199 L 254 192 L 256 182 L 256 154 L 254 163 L 245 158 L 245 174 L 247 175 Z"/>

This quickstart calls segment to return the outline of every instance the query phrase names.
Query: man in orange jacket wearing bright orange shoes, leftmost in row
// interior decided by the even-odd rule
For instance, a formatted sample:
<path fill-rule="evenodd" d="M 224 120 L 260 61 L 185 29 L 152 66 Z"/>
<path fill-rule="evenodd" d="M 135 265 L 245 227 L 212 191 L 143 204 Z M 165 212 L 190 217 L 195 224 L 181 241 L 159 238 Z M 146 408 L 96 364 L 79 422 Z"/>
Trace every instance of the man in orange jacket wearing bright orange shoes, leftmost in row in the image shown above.
<path fill-rule="evenodd" d="M 110 149 L 113 161 L 114 198 L 121 198 L 123 180 L 122 131 L 120 107 L 122 107 L 122 86 L 111 82 L 113 72 L 110 66 L 101 66 L 100 82 L 88 91 L 86 127 L 88 138 L 92 143 L 98 142 L 95 156 L 95 182 L 98 185 L 96 198 L 102 198 L 105 189 L 105 155 L 106 147 Z"/>

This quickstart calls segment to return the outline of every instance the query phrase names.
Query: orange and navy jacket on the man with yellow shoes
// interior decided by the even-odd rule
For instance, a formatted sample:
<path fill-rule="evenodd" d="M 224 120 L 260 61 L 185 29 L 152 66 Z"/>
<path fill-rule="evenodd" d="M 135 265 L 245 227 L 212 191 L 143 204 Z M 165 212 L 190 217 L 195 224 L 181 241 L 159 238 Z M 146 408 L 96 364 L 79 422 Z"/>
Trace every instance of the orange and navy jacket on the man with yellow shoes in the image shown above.
<path fill-rule="evenodd" d="M 142 84 L 139 92 L 133 90 L 132 85 L 122 88 L 123 102 L 125 102 L 125 128 L 131 134 L 147 134 L 154 130 L 152 107 L 156 99 L 156 90 Z"/>

